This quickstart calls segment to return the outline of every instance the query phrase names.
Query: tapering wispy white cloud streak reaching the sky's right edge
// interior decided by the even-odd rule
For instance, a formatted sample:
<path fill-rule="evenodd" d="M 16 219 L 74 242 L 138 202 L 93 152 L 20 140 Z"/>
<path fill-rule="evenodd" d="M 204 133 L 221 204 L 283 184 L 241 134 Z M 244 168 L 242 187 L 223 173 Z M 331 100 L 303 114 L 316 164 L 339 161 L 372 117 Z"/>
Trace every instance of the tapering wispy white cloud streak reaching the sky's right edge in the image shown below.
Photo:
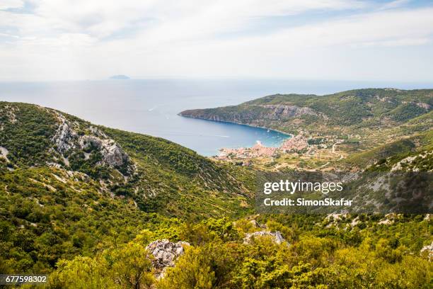
<path fill-rule="evenodd" d="M 290 47 L 317 45 L 362 45 L 365 42 L 398 43 L 433 35 L 433 8 L 382 11 L 337 21 L 282 30 L 263 39 L 274 44 L 292 42 Z M 258 41 L 260 42 L 260 40 Z M 400 44 L 399 44 L 400 45 Z"/>

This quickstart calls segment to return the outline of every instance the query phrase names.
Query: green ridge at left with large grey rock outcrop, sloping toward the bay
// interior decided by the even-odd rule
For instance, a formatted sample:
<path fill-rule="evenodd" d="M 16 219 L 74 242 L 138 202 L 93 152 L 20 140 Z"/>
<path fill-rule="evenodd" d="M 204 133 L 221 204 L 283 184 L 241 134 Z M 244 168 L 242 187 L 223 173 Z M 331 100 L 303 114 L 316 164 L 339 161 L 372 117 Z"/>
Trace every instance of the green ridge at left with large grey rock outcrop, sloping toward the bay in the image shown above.
<path fill-rule="evenodd" d="M 0 167 L 52 166 L 87 174 L 145 212 L 178 217 L 238 215 L 250 171 L 213 162 L 168 140 L 92 125 L 66 113 L 0 103 Z"/>

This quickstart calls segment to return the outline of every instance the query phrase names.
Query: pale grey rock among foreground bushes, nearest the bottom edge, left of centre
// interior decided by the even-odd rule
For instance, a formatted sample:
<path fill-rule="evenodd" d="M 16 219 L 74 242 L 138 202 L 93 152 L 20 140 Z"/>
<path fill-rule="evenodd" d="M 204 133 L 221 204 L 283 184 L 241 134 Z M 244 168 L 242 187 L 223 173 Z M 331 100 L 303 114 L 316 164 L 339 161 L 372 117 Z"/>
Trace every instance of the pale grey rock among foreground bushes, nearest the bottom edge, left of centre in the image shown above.
<path fill-rule="evenodd" d="M 187 242 L 173 243 L 168 239 L 162 239 L 146 246 L 146 249 L 155 257 L 152 265 L 156 269 L 156 278 L 163 278 L 166 268 L 175 266 L 175 260 L 185 253 L 183 246 L 190 246 L 190 244 Z"/>

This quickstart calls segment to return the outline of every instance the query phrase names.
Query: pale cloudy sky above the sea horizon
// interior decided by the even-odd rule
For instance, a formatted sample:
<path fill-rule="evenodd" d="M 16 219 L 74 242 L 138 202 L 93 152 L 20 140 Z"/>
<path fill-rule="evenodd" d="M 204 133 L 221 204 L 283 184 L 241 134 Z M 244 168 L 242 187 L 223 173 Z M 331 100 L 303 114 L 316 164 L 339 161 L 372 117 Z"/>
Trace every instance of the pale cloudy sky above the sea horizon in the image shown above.
<path fill-rule="evenodd" d="M 433 81 L 433 1 L 0 0 L 0 81 Z"/>

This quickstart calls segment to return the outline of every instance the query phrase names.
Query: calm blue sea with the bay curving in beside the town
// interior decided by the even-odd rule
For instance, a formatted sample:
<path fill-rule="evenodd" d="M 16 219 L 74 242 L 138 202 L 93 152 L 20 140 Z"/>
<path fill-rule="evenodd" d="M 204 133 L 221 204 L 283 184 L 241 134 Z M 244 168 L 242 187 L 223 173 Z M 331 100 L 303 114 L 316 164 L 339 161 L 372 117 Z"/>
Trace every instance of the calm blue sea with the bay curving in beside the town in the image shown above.
<path fill-rule="evenodd" d="M 56 108 L 98 125 L 163 137 L 204 156 L 221 147 L 277 146 L 288 135 L 246 125 L 184 118 L 180 111 L 213 108 L 270 94 L 331 94 L 348 89 L 432 88 L 432 84 L 262 79 L 144 79 L 0 82 L 0 101 Z"/>

